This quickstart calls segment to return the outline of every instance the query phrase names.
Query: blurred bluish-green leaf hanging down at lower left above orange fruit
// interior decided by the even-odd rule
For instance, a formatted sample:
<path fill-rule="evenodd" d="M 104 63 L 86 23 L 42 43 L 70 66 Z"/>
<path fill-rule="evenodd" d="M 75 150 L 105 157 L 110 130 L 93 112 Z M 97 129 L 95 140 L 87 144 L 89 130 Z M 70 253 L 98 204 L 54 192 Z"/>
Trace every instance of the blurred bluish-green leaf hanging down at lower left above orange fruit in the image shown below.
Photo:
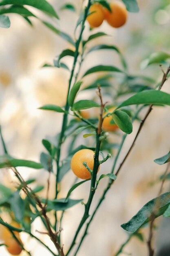
<path fill-rule="evenodd" d="M 20 191 L 15 191 L 8 202 L 11 204 L 11 210 L 13 211 L 16 220 L 21 222 L 24 218 L 25 201 L 20 197 Z"/>

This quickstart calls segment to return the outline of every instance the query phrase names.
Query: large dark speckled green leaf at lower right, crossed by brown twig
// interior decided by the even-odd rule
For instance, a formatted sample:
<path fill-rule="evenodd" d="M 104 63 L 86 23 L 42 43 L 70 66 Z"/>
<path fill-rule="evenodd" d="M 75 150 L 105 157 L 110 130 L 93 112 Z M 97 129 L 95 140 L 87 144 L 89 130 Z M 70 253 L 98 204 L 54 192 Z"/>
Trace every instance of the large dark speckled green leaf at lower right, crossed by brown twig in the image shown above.
<path fill-rule="evenodd" d="M 122 224 L 121 227 L 126 231 L 135 232 L 141 226 L 150 221 L 153 211 L 157 218 L 166 211 L 169 205 L 170 192 L 166 192 L 146 203 L 135 216 L 133 216 L 128 222 Z M 155 206 L 158 206 L 157 209 L 155 209 Z"/>

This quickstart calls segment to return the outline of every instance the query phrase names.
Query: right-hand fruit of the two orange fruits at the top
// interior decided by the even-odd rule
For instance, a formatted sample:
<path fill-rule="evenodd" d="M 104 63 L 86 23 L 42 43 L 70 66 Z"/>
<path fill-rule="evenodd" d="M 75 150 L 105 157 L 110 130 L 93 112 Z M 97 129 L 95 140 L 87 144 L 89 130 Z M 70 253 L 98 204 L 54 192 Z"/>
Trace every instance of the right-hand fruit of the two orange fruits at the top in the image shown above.
<path fill-rule="evenodd" d="M 104 9 L 104 18 L 107 20 L 108 24 L 111 27 L 121 27 L 126 23 L 128 18 L 128 11 L 126 10 L 126 6 L 115 0 L 110 3 L 110 9 L 112 12 L 108 11 L 108 9 Z"/>

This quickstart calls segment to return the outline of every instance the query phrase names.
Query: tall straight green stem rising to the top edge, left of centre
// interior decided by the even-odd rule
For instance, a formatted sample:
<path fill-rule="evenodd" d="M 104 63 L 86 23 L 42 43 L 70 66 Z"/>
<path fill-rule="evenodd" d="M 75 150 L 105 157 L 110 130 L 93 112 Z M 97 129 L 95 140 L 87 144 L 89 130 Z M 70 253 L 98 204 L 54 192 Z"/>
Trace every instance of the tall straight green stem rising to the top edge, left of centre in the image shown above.
<path fill-rule="evenodd" d="M 87 5 L 87 7 L 84 11 L 84 19 L 82 20 L 81 31 L 80 31 L 80 34 L 79 34 L 79 38 L 78 38 L 78 40 L 75 44 L 76 47 L 75 47 L 74 62 L 73 62 L 72 70 L 71 70 L 71 76 L 70 76 L 69 83 L 68 83 L 68 92 L 67 92 L 65 113 L 64 113 L 63 121 L 62 121 L 62 130 L 61 130 L 61 133 L 60 133 L 59 144 L 58 144 L 58 147 L 57 147 L 57 161 L 56 161 L 57 174 L 56 174 L 56 184 L 55 184 L 55 198 L 57 198 L 57 195 L 59 193 L 58 183 L 59 183 L 59 173 L 60 173 L 60 153 L 61 153 L 61 146 L 62 146 L 62 143 L 63 143 L 63 140 L 64 140 L 64 132 L 65 132 L 66 126 L 67 126 L 68 110 L 69 110 L 68 97 L 69 97 L 69 93 L 70 93 L 70 89 L 71 89 L 71 83 L 72 83 L 73 75 L 74 75 L 74 72 L 75 72 L 75 65 L 77 63 L 77 58 L 79 56 L 79 45 L 80 45 L 80 42 L 82 40 L 82 34 L 83 34 L 83 31 L 84 31 L 84 28 L 85 28 L 84 24 L 85 24 L 85 21 L 86 21 L 87 15 L 88 15 L 88 10 L 89 10 L 90 6 L 91 6 L 91 0 L 88 1 L 88 5 Z M 56 212 L 55 212 L 55 230 L 57 230 L 57 213 Z"/>

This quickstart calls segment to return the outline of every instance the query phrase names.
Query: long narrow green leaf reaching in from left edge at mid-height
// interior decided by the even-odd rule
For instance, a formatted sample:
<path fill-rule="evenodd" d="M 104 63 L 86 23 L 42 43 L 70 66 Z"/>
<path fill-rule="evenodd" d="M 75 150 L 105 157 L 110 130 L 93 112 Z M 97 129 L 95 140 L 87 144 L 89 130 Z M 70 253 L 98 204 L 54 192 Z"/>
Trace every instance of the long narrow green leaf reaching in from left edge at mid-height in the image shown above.
<path fill-rule="evenodd" d="M 15 159 L 9 155 L 2 155 L 0 156 L 0 168 L 9 168 L 9 167 L 18 167 L 24 166 L 34 169 L 41 169 L 43 166 L 40 163 L 29 161 L 29 160 L 22 160 L 22 159 Z"/>

